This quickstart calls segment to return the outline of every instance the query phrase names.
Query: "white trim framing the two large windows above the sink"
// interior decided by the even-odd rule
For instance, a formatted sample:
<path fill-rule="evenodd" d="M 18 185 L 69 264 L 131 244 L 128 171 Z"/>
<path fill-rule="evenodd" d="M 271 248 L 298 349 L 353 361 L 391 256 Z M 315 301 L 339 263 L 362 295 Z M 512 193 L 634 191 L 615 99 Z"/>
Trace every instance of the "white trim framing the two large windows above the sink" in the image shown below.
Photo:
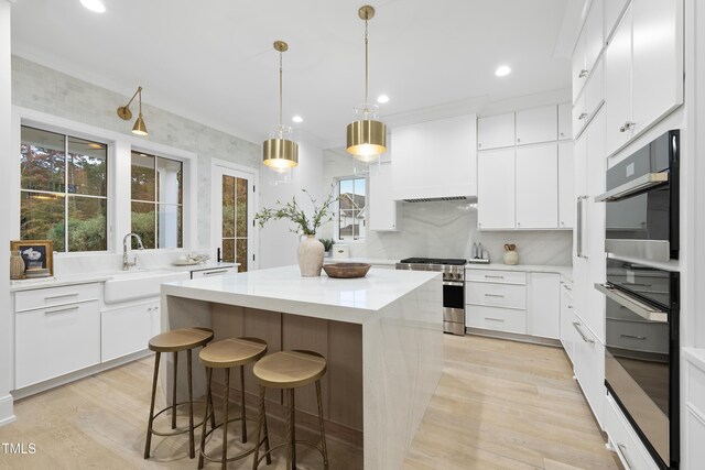
<path fill-rule="evenodd" d="M 130 166 L 123 163 L 126 160 L 129 162 L 130 152 L 145 152 L 183 162 L 183 194 L 185 200 L 182 226 L 183 248 L 184 250 L 197 249 L 198 155 L 196 153 L 19 106 L 12 107 L 11 122 L 12 147 L 18 151 L 20 149 L 20 129 L 22 125 L 65 132 L 108 144 L 108 253 L 120 253 L 122 250 L 121 233 L 130 231 Z M 20 160 L 10 160 L 14 175 L 10 178 L 10 230 L 12 239 L 18 239 L 20 237 Z M 96 252 L 86 252 L 85 254 L 95 255 Z M 56 256 L 64 255 L 68 255 L 68 253 L 56 253 Z"/>

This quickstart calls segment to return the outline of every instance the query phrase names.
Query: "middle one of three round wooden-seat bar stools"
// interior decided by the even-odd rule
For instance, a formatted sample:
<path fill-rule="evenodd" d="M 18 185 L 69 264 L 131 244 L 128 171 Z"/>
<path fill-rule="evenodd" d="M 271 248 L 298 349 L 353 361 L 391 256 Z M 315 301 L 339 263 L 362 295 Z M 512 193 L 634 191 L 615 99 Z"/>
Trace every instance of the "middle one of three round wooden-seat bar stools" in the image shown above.
<path fill-rule="evenodd" d="M 200 350 L 198 358 L 200 359 L 200 363 L 206 367 L 206 375 L 207 375 L 207 394 L 210 394 L 212 381 L 213 381 L 213 370 L 214 369 L 223 369 L 225 372 L 225 398 L 223 403 L 224 407 L 224 416 L 223 423 L 215 426 L 215 408 L 213 403 L 206 404 L 206 414 L 203 418 L 203 433 L 200 434 L 200 451 L 198 455 L 198 468 L 202 469 L 204 464 L 204 458 L 214 462 L 221 462 L 223 469 L 227 467 L 228 462 L 234 460 L 242 459 L 254 451 L 256 446 L 252 448 L 241 451 L 240 453 L 228 458 L 228 423 L 232 422 L 241 422 L 242 424 L 242 444 L 247 442 L 247 414 L 245 409 L 245 365 L 250 364 L 259 360 L 262 356 L 267 353 L 267 342 L 259 338 L 229 338 L 220 341 L 216 341 L 212 345 L 208 345 L 204 349 Z M 230 395 L 230 368 L 239 367 L 240 368 L 240 384 L 242 386 L 242 393 L 240 398 L 240 416 L 237 418 L 229 419 L 228 415 L 228 402 Z M 206 433 L 206 424 L 208 422 L 208 415 L 210 415 L 210 430 Z M 253 419 L 250 419 L 253 420 Z M 209 436 L 213 431 L 215 431 L 218 427 L 223 426 L 223 453 L 219 458 L 215 458 L 206 453 L 206 437 Z M 262 424 L 260 423 L 260 426 Z M 262 439 L 264 442 L 264 448 L 269 450 L 269 435 L 267 431 L 267 420 L 264 420 L 264 438 Z M 260 436 L 259 429 L 257 433 L 257 447 L 260 445 Z M 267 456 L 267 462 L 271 463 L 271 458 L 269 455 Z"/>

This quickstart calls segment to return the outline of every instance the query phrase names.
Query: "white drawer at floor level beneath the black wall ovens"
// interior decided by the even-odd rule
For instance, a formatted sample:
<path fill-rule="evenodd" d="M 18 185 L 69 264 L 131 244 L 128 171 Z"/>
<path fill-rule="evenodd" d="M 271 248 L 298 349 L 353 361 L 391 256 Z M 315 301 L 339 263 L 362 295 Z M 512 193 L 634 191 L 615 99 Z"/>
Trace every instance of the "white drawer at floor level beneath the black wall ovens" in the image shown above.
<path fill-rule="evenodd" d="M 655 462 L 649 457 L 647 449 L 617 407 L 612 397 L 607 395 L 605 402 L 605 429 L 609 435 L 609 441 L 625 467 L 629 469 L 657 470 Z"/>

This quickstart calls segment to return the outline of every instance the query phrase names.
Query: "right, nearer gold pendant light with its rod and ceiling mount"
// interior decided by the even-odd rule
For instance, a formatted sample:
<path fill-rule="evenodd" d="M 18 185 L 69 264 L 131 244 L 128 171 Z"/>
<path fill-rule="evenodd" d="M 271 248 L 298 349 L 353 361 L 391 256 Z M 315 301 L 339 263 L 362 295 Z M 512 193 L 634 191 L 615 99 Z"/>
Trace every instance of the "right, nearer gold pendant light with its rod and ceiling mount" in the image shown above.
<path fill-rule="evenodd" d="M 361 7 L 358 17 L 365 20 L 365 102 L 356 109 L 362 114 L 362 119 L 348 124 L 348 153 L 361 162 L 373 162 L 387 151 L 387 127 L 377 120 L 377 105 L 368 102 L 367 22 L 375 17 L 375 9 L 370 6 Z"/>

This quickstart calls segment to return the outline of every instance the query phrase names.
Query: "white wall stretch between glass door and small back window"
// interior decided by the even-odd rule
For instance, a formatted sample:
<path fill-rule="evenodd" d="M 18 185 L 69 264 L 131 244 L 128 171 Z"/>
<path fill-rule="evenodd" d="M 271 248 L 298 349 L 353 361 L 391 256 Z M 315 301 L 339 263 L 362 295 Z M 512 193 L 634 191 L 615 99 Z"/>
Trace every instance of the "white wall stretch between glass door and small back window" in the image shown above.
<path fill-rule="evenodd" d="M 299 140 L 299 166 L 293 170 L 291 182 L 283 185 L 272 185 L 269 170 L 260 173 L 260 207 L 275 208 L 276 201 L 286 203 L 292 196 L 306 210 L 313 214 L 311 201 L 302 189 L 306 189 L 318 204 L 325 199 L 327 193 L 321 188 L 323 178 L 323 152 L 315 144 Z M 281 220 L 270 220 L 260 229 L 260 267 L 273 267 L 296 264 L 296 248 L 300 236 L 290 231 L 296 228 L 293 223 Z M 321 238 L 318 236 L 318 238 Z"/>

